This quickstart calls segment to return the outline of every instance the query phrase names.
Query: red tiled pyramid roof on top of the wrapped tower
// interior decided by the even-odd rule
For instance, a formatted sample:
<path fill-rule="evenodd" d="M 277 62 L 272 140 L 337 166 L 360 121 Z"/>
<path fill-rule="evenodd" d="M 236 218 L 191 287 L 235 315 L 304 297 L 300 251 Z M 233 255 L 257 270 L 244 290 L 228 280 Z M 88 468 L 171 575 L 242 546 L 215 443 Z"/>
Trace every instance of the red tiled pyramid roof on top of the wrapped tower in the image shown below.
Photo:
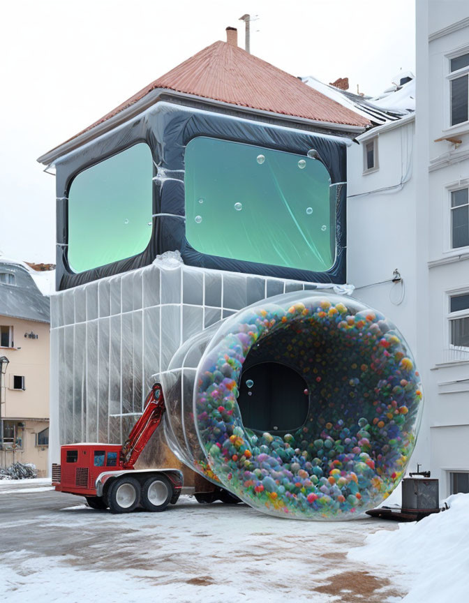
<path fill-rule="evenodd" d="M 366 118 L 307 86 L 294 75 L 238 46 L 218 41 L 158 77 L 69 140 L 114 117 L 156 88 L 313 121 L 362 127 L 370 124 Z"/>

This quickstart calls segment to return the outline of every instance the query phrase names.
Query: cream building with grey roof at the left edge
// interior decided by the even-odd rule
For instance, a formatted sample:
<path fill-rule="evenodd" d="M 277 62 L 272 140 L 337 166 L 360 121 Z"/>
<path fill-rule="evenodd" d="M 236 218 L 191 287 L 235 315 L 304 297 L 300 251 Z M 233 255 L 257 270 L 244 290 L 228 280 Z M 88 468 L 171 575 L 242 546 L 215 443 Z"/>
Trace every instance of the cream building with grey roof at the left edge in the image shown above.
<path fill-rule="evenodd" d="M 47 475 L 49 444 L 49 299 L 22 262 L 0 258 L 0 466 L 34 463 Z"/>

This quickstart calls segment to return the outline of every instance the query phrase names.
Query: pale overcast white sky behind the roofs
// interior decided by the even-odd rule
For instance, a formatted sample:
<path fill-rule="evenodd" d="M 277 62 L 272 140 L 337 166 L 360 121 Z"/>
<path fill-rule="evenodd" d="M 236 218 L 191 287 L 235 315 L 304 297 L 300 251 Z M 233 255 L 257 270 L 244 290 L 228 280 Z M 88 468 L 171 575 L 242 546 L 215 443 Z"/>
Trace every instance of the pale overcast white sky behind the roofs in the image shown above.
<path fill-rule="evenodd" d="M 251 23 L 251 52 L 378 94 L 415 73 L 412 0 L 14 0 L 0 35 L 0 251 L 54 262 L 54 177 L 36 158 L 156 77 Z M 259 31 L 256 31 L 259 30 Z"/>

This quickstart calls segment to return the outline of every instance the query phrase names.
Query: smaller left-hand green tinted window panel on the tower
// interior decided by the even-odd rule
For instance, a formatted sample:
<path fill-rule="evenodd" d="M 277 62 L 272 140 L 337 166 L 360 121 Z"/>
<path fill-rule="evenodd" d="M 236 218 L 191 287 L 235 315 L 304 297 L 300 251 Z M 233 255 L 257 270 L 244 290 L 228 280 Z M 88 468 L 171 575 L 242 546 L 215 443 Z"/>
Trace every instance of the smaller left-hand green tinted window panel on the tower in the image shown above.
<path fill-rule="evenodd" d="M 153 161 L 135 144 L 80 172 L 68 193 L 68 263 L 75 272 L 141 253 L 151 237 Z"/>

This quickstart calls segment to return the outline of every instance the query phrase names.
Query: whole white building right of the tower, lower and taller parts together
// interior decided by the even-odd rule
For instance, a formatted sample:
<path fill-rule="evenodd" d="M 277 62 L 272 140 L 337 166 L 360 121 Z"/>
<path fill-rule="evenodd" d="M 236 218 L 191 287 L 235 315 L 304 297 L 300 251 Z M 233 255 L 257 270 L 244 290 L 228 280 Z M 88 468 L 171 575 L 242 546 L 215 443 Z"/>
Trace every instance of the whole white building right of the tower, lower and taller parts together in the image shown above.
<path fill-rule="evenodd" d="M 430 469 L 441 498 L 469 492 L 468 80 L 469 3 L 417 0 L 415 119 L 348 149 L 348 281 L 417 359 L 425 404 L 410 470 Z"/>

